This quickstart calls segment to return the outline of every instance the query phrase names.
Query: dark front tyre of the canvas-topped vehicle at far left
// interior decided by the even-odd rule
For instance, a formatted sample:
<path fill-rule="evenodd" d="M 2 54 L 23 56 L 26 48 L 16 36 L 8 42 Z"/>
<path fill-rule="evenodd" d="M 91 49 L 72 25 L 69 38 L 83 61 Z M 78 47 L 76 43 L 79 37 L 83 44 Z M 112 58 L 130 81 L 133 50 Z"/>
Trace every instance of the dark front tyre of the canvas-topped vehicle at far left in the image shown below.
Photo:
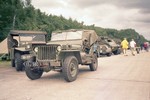
<path fill-rule="evenodd" d="M 22 71 L 23 69 L 23 60 L 21 59 L 21 55 L 19 53 L 15 54 L 15 68 L 16 71 Z"/>

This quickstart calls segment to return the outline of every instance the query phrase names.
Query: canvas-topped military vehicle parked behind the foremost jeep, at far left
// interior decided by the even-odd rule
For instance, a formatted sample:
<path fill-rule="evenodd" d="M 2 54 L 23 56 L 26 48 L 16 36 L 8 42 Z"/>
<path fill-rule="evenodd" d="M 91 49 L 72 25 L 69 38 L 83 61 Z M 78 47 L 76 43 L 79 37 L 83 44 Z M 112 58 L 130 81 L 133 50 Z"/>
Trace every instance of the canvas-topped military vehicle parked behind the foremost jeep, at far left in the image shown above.
<path fill-rule="evenodd" d="M 30 53 L 29 43 L 46 44 L 46 35 L 47 33 L 42 31 L 11 30 L 7 37 L 11 66 L 15 67 L 17 71 L 23 70 L 24 60 L 21 56 Z"/>

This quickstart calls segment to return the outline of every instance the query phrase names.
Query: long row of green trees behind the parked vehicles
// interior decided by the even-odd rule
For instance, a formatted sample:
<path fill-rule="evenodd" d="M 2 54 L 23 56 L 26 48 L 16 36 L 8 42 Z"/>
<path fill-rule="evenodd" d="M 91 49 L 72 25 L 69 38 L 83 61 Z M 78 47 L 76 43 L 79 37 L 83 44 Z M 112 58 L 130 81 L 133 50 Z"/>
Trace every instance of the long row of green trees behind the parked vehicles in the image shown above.
<path fill-rule="evenodd" d="M 0 41 L 5 39 L 10 30 L 36 30 L 46 31 L 50 39 L 52 31 L 67 29 L 92 29 L 100 36 L 108 36 L 122 40 L 126 37 L 132 38 L 138 43 L 147 41 L 134 29 L 109 29 L 95 25 L 84 25 L 72 18 L 66 19 L 62 15 L 56 16 L 46 14 L 39 9 L 35 9 L 31 0 L 0 0 Z"/>

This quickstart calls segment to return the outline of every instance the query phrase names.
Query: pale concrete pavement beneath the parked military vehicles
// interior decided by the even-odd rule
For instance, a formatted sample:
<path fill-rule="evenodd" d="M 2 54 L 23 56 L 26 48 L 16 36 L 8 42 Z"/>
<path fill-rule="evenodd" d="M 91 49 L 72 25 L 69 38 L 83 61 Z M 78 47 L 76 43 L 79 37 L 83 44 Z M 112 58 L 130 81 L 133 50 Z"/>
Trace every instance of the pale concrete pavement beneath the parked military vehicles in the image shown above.
<path fill-rule="evenodd" d="M 150 52 L 99 58 L 97 71 L 80 66 L 71 83 L 57 72 L 32 81 L 1 64 L 0 100 L 150 100 Z"/>

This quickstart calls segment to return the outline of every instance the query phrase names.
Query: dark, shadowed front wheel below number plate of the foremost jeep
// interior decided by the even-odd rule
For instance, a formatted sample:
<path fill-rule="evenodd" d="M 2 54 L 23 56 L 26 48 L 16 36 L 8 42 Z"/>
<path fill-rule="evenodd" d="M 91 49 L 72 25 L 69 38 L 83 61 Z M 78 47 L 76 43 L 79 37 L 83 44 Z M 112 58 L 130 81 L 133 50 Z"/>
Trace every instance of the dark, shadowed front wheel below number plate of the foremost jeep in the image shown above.
<path fill-rule="evenodd" d="M 31 80 L 39 79 L 43 74 L 43 70 L 33 69 L 30 66 L 25 66 L 25 72 L 27 77 Z"/>

